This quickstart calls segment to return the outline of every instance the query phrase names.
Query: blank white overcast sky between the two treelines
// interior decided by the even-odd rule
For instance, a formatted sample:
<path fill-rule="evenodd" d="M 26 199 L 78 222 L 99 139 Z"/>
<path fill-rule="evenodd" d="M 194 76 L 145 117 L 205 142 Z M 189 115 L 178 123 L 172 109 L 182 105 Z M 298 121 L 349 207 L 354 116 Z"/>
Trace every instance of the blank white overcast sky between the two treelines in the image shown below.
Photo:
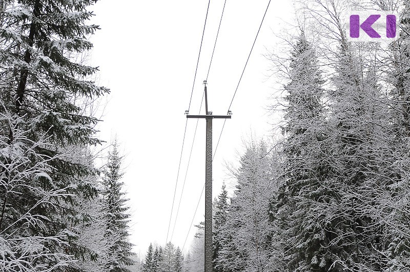
<path fill-rule="evenodd" d="M 223 0 L 211 1 L 192 97 L 198 114 Z M 263 54 L 275 48 L 278 33 L 291 23 L 293 1 L 272 1 L 247 69 L 233 101 L 213 163 L 213 195 L 222 181 L 232 186 L 227 163 L 237 163 L 243 140 L 265 137 L 271 125 L 267 107 L 273 93 L 271 63 Z M 228 0 L 208 78 L 209 109 L 227 113 L 268 0 Z M 101 30 L 91 38 L 92 63 L 99 66 L 100 85 L 111 89 L 100 124 L 100 138 L 116 134 L 126 155 L 123 181 L 130 198 L 131 242 L 144 255 L 150 242 L 165 244 L 177 177 L 183 130 L 208 1 L 109 1 L 92 8 Z M 204 114 L 203 110 L 202 113 Z M 223 119 L 214 119 L 214 150 Z M 172 233 L 181 187 L 187 170 L 196 119 L 188 120 L 179 173 Z M 188 176 L 172 242 L 182 247 L 204 182 L 205 122 L 199 121 Z M 203 196 L 194 224 L 203 220 Z M 195 234 L 192 226 L 184 251 Z"/>

